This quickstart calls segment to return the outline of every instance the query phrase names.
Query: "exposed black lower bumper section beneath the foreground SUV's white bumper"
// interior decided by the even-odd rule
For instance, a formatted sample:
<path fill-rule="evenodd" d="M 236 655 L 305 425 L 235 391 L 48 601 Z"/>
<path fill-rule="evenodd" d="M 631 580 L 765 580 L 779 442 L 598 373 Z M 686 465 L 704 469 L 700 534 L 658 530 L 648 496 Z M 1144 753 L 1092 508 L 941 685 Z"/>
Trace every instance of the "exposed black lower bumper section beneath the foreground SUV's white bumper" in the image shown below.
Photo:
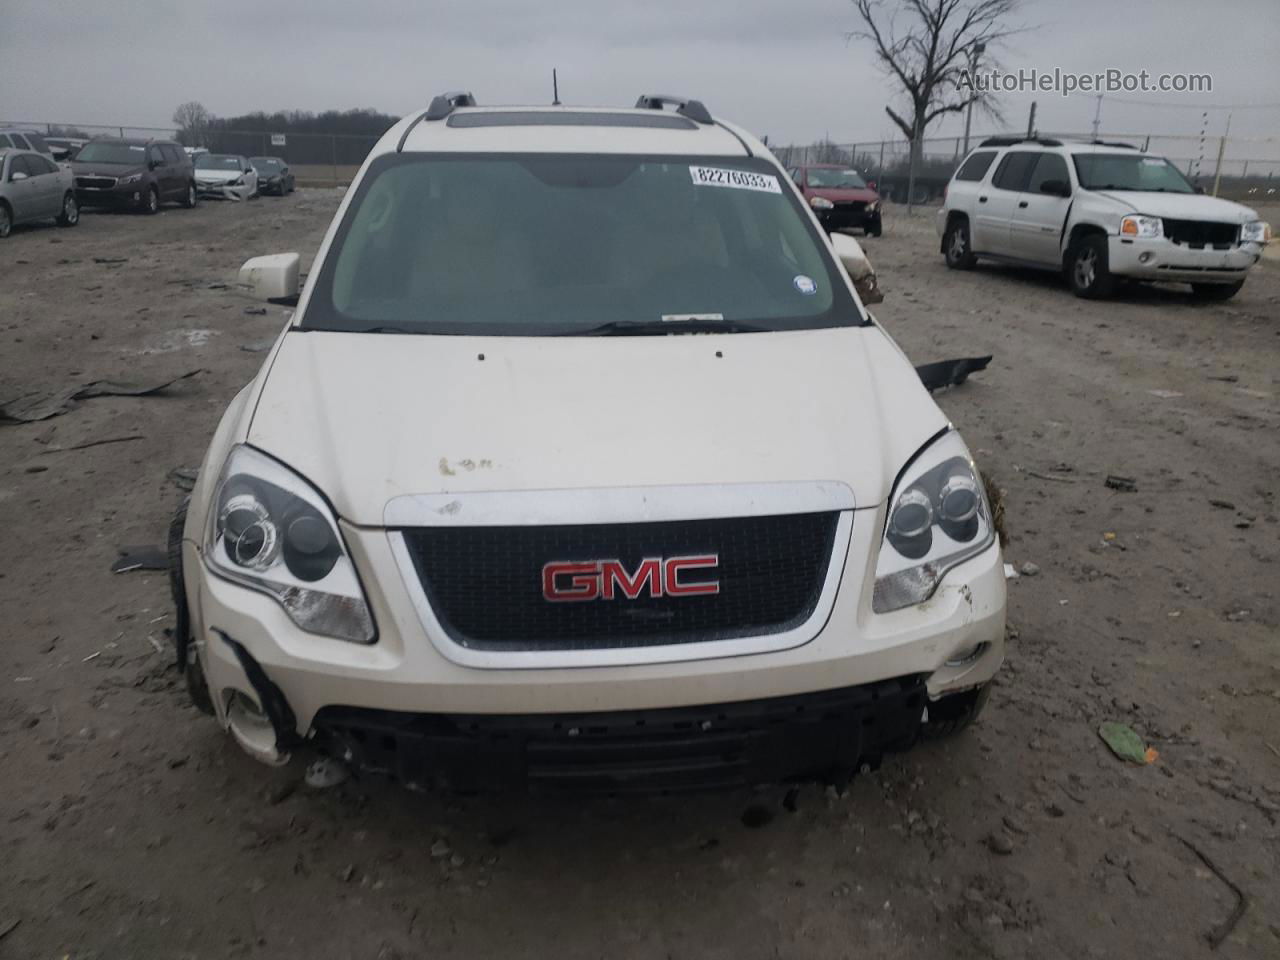
<path fill-rule="evenodd" d="M 911 746 L 923 677 L 800 696 L 585 714 L 416 714 L 329 707 L 320 744 L 412 788 L 539 794 L 844 782 Z"/>

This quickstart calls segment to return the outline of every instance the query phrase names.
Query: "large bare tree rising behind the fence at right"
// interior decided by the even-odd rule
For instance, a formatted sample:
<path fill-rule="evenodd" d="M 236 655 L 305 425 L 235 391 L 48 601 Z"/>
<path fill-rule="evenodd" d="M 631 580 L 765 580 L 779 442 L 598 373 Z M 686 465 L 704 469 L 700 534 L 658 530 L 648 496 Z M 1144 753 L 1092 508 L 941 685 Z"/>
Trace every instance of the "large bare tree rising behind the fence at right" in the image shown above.
<path fill-rule="evenodd" d="M 915 168 L 929 124 L 943 114 L 960 113 L 970 104 L 998 116 L 989 91 L 965 82 L 977 54 L 1015 31 L 1006 26 L 1020 0 L 895 0 L 886 13 L 884 0 L 854 0 L 861 29 L 851 40 L 876 47 L 879 68 L 892 78 L 906 100 L 901 113 L 884 113 L 911 146 L 908 205 L 915 192 Z M 902 14 L 904 23 L 899 22 Z M 988 63 L 991 58 L 988 56 Z"/>

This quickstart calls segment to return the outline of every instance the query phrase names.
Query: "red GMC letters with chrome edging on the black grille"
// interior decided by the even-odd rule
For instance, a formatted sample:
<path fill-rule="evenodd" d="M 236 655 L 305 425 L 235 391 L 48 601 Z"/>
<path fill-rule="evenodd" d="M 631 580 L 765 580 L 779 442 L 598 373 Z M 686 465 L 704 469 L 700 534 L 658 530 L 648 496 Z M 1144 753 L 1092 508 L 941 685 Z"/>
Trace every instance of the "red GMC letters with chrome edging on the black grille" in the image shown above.
<path fill-rule="evenodd" d="M 719 593 L 719 581 L 699 584 L 681 581 L 681 572 L 713 570 L 719 566 L 714 553 L 694 557 L 648 557 L 635 572 L 618 559 L 557 561 L 543 567 L 543 598 L 552 603 L 573 600 L 636 600 L 640 596 L 699 596 Z"/>

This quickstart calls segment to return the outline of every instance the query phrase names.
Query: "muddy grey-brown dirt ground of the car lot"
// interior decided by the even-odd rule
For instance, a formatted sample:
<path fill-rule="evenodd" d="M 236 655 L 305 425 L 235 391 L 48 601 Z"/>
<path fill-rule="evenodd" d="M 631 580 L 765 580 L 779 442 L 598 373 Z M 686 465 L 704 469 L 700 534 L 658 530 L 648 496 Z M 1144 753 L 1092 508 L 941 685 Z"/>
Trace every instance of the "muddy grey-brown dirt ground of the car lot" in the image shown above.
<path fill-rule="evenodd" d="M 239 262 L 308 257 L 338 197 L 0 242 L 0 403 L 202 371 L 0 426 L 0 957 L 1197 957 L 1228 882 L 1215 955 L 1280 956 L 1280 264 L 1225 305 L 1088 303 L 947 271 L 924 215 L 868 241 L 916 362 L 995 355 L 938 401 L 1038 566 L 968 733 L 794 803 L 312 791 L 188 705 L 165 576 L 109 567 L 163 543 L 169 471 L 284 323 Z M 1112 756 L 1108 719 L 1158 759 Z"/>

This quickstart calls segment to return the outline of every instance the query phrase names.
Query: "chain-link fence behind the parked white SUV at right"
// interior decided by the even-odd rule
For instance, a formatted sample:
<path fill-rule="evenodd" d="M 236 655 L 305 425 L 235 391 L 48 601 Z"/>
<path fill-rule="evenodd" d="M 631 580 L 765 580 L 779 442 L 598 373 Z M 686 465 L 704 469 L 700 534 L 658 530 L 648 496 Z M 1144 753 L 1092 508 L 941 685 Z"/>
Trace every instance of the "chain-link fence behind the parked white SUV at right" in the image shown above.
<path fill-rule="evenodd" d="M 969 148 L 987 136 L 970 136 Z M 1016 136 L 1016 134 L 1000 134 Z M 1060 140 L 1093 140 L 1091 133 L 1047 133 L 1037 136 Z M 1206 192 L 1242 201 L 1280 201 L 1280 138 L 1276 137 L 1197 137 L 1149 133 L 1100 133 L 1098 140 L 1128 143 L 1166 156 Z M 911 150 L 906 140 L 833 143 L 819 141 L 806 146 L 769 148 L 783 166 L 803 164 L 846 164 L 873 180 L 890 201 L 906 202 Z M 915 187 L 911 201 L 929 204 L 942 198 L 951 174 L 965 157 L 964 137 L 932 137 L 922 141 L 916 156 Z"/>

